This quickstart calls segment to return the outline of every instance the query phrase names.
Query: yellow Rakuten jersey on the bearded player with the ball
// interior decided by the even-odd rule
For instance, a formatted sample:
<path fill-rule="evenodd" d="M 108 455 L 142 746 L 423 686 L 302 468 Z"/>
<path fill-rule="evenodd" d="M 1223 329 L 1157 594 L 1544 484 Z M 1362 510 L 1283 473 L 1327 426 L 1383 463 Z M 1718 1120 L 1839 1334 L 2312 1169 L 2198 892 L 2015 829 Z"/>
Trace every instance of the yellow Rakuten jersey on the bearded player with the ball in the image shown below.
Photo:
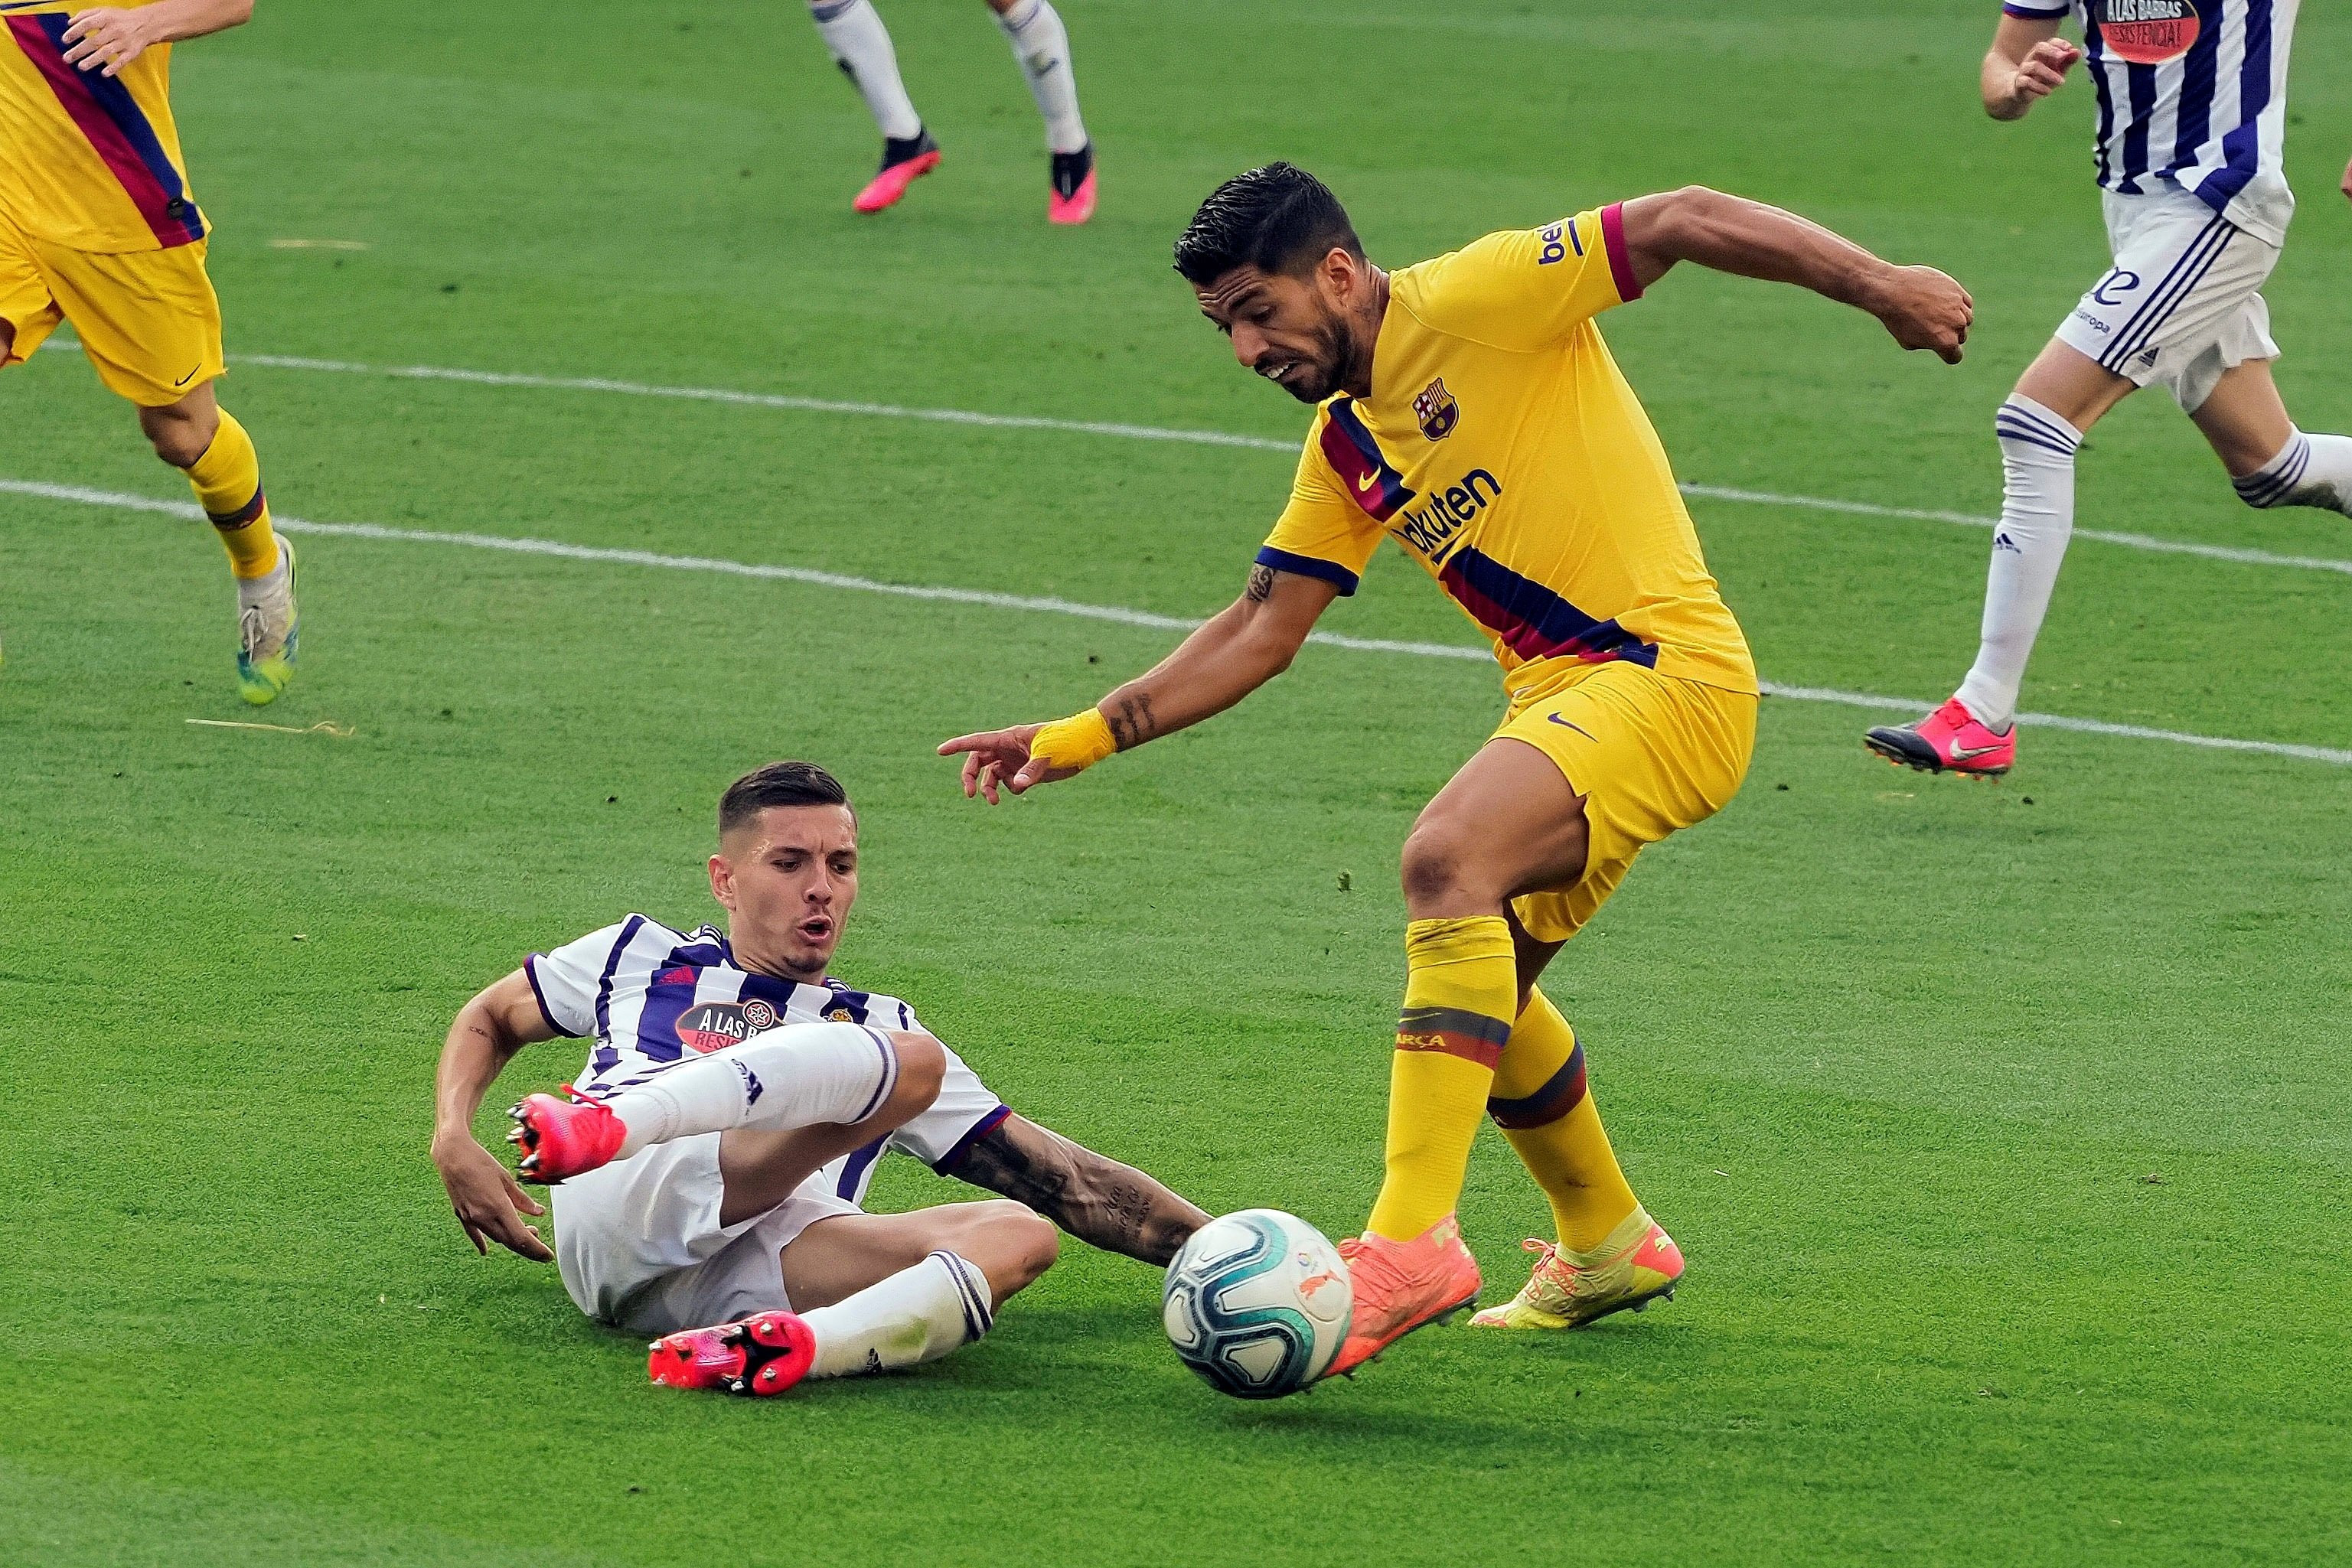
<path fill-rule="evenodd" d="M 1515 701 L 1613 658 L 1755 693 L 1658 433 L 1592 324 L 1639 294 L 1616 207 L 1395 273 L 1371 397 L 1317 409 L 1258 562 L 1355 592 L 1388 534 L 1486 632 Z"/>

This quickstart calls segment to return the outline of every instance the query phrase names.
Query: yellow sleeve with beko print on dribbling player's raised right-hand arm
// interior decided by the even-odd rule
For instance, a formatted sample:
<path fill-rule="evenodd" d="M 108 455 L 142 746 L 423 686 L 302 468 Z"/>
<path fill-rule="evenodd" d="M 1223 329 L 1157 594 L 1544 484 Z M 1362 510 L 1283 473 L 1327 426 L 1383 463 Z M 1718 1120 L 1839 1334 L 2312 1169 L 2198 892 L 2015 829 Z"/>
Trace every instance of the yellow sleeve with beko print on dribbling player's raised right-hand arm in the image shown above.
<path fill-rule="evenodd" d="M 1505 228 L 1397 275 L 1397 296 L 1437 331 L 1491 348 L 1550 348 L 1611 306 L 1642 299 L 1618 205 L 1548 228 Z"/>

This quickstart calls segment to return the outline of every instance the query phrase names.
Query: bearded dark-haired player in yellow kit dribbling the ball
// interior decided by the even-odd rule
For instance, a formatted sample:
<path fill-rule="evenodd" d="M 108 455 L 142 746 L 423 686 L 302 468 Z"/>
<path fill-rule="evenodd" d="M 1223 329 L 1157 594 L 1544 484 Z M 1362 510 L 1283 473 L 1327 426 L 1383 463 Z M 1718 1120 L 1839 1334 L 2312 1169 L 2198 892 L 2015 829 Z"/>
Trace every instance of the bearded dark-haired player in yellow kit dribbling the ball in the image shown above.
<path fill-rule="evenodd" d="M 1508 710 L 1404 842 L 1404 1011 L 1388 1175 L 1341 1244 L 1355 1316 L 1331 1371 L 1470 1305 L 1470 1143 L 1491 1114 L 1543 1187 L 1555 1244 L 1472 1319 L 1573 1328 L 1665 1295 L 1682 1253 L 1618 1171 L 1576 1032 L 1536 990 L 1644 844 L 1719 811 L 1748 771 L 1757 677 L 1675 475 L 1592 317 L 1670 266 L 1795 282 L 1957 362 L 1969 294 L 1776 207 L 1686 188 L 1508 230 L 1397 270 L 1291 165 L 1218 186 L 1176 270 L 1235 357 L 1319 404 L 1242 597 L 1148 675 L 1054 724 L 948 741 L 964 792 L 1023 792 L 1197 724 L 1279 675 L 1395 538 L 1494 642 Z"/>

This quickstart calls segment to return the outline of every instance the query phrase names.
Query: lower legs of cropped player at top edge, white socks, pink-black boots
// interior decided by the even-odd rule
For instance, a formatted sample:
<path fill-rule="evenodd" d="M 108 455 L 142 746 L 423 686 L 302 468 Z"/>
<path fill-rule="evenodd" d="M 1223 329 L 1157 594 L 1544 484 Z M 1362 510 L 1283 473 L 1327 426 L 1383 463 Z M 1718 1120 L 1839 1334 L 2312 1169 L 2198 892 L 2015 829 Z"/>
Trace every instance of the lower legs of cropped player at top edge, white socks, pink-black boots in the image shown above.
<path fill-rule="evenodd" d="M 988 9 L 997 14 L 997 28 L 1014 47 L 1014 63 L 1044 118 L 1047 223 L 1084 223 L 1094 216 L 1094 141 L 1077 115 L 1070 31 L 1061 26 L 1054 0 L 988 0 Z M 849 205 L 858 212 L 896 207 L 908 186 L 938 167 L 938 141 L 906 96 L 889 28 L 873 0 L 809 0 L 809 19 L 882 132 L 882 169 Z"/>

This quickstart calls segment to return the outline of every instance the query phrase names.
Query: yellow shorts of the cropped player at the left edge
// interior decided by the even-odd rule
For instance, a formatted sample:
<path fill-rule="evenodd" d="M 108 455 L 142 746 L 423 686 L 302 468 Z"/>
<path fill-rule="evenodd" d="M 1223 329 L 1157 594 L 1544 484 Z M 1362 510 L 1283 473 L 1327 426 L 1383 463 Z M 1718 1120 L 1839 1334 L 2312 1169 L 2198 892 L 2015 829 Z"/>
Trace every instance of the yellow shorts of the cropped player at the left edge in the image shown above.
<path fill-rule="evenodd" d="M 143 409 L 179 402 L 221 374 L 221 301 L 205 242 L 162 252 L 75 252 L 0 216 L 0 322 L 14 331 L 0 364 L 19 364 L 59 322 L 73 322 L 99 381 Z"/>

